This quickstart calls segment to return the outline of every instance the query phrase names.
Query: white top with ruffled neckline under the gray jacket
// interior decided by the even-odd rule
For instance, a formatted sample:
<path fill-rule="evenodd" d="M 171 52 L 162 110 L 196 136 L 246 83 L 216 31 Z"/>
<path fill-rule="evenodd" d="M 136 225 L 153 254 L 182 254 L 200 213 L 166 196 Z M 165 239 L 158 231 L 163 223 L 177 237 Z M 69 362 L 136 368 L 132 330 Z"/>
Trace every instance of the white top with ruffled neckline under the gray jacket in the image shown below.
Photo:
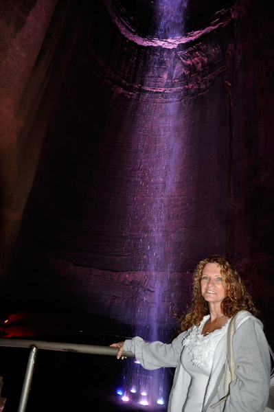
<path fill-rule="evenodd" d="M 203 318 L 201 325 L 194 326 L 192 332 L 182 342 L 181 365 L 192 379 L 183 412 L 202 411 L 214 352 L 222 336 L 227 333 L 229 321 L 221 329 L 216 329 L 203 336 L 202 330 L 207 319 L 209 315 Z"/>

